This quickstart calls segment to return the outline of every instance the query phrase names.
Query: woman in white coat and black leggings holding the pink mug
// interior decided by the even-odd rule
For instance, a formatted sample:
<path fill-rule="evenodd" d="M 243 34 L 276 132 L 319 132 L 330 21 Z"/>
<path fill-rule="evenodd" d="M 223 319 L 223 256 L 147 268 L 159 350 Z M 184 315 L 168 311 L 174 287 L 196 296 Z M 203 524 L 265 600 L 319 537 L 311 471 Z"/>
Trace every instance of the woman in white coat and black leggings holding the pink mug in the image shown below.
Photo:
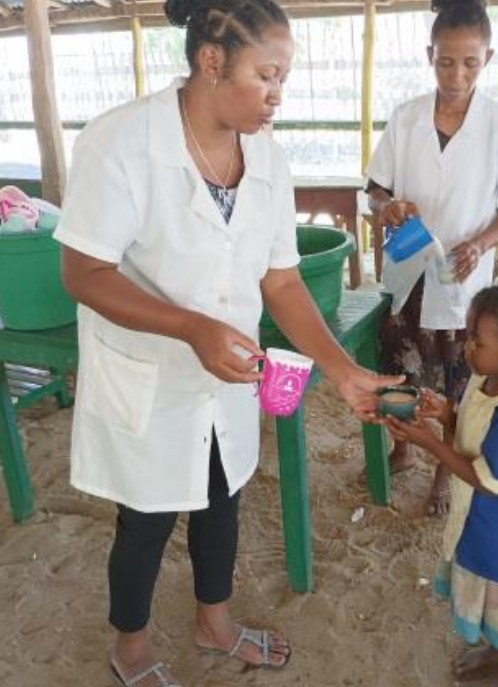
<path fill-rule="evenodd" d="M 273 0 L 165 10 L 187 28 L 191 74 L 87 127 L 56 233 L 81 304 L 71 481 L 118 504 L 111 667 L 136 687 L 178 684 L 148 631 L 178 511 L 190 512 L 196 644 L 252 666 L 289 660 L 282 637 L 235 624 L 228 605 L 239 492 L 258 458 L 248 358 L 262 354 L 263 301 L 360 416 L 401 381 L 355 365 L 300 279 L 289 169 L 261 131 L 291 65 L 285 14 Z"/>

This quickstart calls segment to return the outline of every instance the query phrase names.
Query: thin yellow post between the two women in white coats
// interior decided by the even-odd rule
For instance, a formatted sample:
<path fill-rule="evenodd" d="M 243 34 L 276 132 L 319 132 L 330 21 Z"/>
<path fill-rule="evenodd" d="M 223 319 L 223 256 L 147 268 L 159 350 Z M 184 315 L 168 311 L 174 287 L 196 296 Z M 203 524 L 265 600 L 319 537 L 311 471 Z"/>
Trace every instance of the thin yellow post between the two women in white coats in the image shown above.
<path fill-rule="evenodd" d="M 363 68 L 361 75 L 361 173 L 365 174 L 372 155 L 373 138 L 373 71 L 375 47 L 375 0 L 365 0 L 363 28 Z M 362 221 L 364 250 L 370 247 L 369 225 Z"/>

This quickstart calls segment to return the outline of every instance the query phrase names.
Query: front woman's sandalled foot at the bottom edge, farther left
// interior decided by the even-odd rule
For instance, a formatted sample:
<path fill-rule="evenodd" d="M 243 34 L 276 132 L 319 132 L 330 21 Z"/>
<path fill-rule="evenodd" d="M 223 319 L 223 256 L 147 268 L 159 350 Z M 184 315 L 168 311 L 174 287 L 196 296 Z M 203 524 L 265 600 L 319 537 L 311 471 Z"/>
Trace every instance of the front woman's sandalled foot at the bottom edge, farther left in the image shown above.
<path fill-rule="evenodd" d="M 118 633 L 111 669 L 123 684 L 135 679 L 136 687 L 181 687 L 164 664 L 155 660 L 147 630 Z M 138 678 L 142 673 L 147 674 Z"/>

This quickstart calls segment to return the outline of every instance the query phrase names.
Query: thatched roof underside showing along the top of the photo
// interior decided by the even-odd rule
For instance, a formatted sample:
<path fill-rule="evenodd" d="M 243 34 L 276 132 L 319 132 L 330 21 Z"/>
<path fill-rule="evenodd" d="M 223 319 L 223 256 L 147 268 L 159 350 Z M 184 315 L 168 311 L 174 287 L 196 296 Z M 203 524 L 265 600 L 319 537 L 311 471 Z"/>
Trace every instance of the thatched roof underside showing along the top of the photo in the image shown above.
<path fill-rule="evenodd" d="M 31 0 L 37 2 L 38 0 Z M 369 0 L 279 0 L 292 17 L 324 17 L 361 14 Z M 498 5 L 498 0 L 490 0 Z M 165 24 L 163 3 L 159 0 L 48 0 L 53 32 L 126 29 L 130 18 L 138 16 L 143 26 Z M 423 10 L 429 0 L 375 0 L 380 12 Z M 23 31 L 22 0 L 0 0 L 0 35 Z"/>

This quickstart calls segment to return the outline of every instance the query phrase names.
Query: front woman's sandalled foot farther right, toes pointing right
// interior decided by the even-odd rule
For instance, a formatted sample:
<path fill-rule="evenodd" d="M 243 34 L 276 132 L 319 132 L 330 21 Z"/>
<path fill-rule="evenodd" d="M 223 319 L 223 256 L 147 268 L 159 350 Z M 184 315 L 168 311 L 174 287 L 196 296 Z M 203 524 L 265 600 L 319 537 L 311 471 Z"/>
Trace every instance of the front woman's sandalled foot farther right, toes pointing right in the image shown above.
<path fill-rule="evenodd" d="M 229 654 L 240 638 L 242 626 L 230 618 L 228 603 L 197 605 L 195 643 L 200 649 L 219 650 Z M 289 661 L 291 649 L 283 637 L 268 633 L 268 667 L 283 668 Z M 264 663 L 263 650 L 255 643 L 243 639 L 233 654 L 249 666 L 260 667 Z"/>

